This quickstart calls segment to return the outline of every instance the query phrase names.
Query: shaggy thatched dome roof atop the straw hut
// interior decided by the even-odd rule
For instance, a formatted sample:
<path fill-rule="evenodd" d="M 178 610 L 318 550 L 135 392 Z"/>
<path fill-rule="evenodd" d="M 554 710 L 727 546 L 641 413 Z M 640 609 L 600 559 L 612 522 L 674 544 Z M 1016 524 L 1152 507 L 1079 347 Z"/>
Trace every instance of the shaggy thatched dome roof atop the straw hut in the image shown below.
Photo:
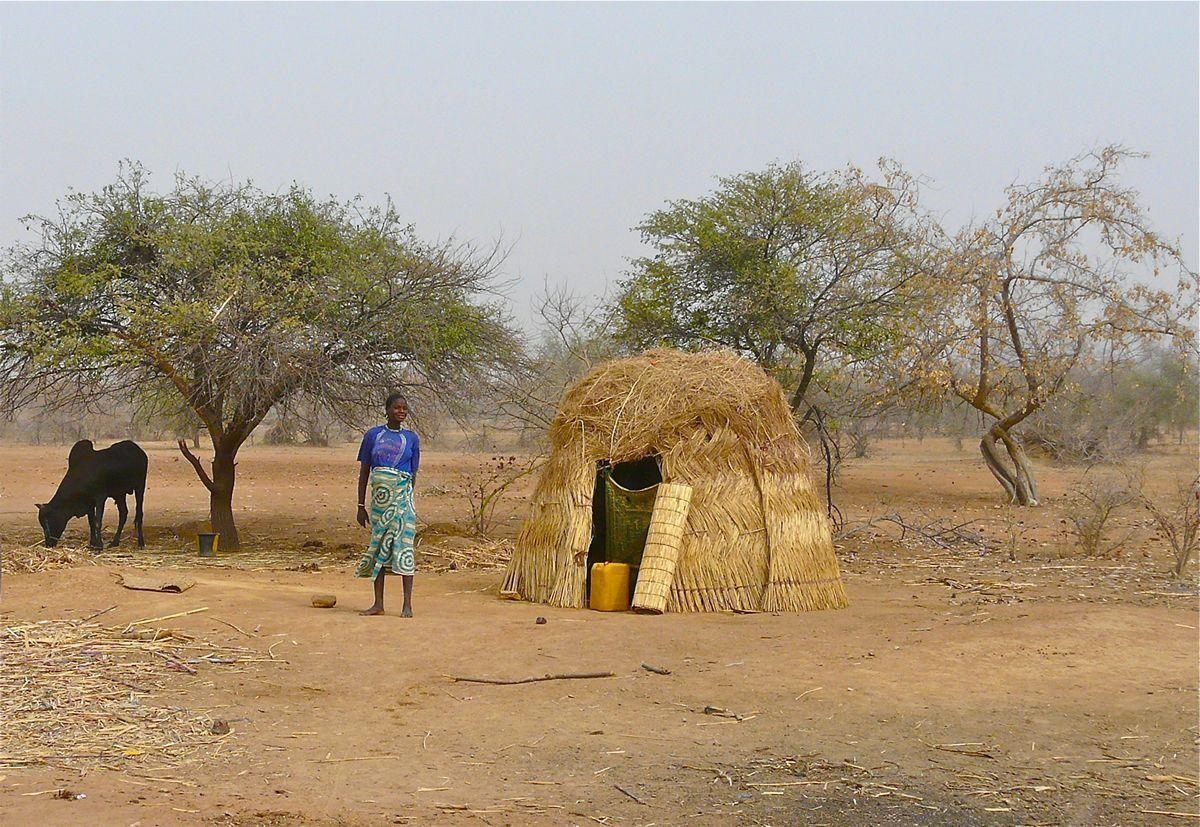
<path fill-rule="evenodd" d="M 624 462 L 718 429 L 806 467 L 779 383 L 730 352 L 658 349 L 605 362 L 566 391 L 550 438 L 554 448 L 582 438 L 588 454 Z"/>

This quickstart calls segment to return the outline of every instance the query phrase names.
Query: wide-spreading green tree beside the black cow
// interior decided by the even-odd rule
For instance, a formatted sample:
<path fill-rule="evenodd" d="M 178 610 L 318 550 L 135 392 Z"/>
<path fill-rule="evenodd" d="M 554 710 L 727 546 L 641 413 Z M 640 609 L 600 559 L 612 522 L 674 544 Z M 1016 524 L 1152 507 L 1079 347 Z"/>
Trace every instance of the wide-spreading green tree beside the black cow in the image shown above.
<path fill-rule="evenodd" d="M 272 407 L 353 421 L 388 389 L 432 401 L 516 354 L 486 300 L 496 251 L 424 242 L 391 204 L 184 176 L 158 194 L 134 164 L 26 222 L 37 240 L 11 251 L 0 301 L 0 402 L 181 402 L 212 441 L 211 474 L 180 450 L 222 547 L 240 546 L 238 450 Z"/>

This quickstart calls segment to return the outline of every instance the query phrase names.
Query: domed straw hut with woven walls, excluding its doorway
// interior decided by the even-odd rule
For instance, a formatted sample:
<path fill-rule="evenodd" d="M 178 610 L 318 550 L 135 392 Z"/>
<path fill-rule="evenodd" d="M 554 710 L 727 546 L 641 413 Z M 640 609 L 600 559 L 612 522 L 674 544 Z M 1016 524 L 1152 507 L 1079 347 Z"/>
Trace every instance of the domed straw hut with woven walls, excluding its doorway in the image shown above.
<path fill-rule="evenodd" d="M 690 486 L 666 611 L 839 609 L 846 592 L 782 389 L 732 353 L 649 350 L 568 390 L 502 592 L 584 606 L 616 490 Z M 610 487 L 611 492 L 614 489 Z"/>

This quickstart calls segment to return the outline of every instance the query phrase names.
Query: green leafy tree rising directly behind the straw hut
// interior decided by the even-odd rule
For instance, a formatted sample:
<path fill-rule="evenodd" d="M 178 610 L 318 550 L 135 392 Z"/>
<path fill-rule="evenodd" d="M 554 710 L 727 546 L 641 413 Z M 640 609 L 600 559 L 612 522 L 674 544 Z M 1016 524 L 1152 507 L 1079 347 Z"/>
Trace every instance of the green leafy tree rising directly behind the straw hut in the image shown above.
<path fill-rule="evenodd" d="M 835 419 L 860 407 L 839 391 L 864 386 L 930 299 L 917 181 L 888 161 L 878 173 L 772 166 L 672 202 L 637 227 L 653 253 L 613 311 L 626 346 L 730 348 L 779 379 L 821 439 L 827 492 Z"/>

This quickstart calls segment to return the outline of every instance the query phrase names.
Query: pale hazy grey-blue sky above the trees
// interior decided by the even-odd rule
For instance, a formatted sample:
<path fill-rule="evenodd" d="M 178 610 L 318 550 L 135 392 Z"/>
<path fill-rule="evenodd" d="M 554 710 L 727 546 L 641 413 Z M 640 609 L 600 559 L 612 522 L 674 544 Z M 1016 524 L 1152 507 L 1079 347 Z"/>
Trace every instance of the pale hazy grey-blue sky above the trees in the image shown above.
<path fill-rule="evenodd" d="M 390 193 L 512 245 L 515 312 L 611 284 L 630 228 L 714 176 L 899 160 L 950 223 L 1082 150 L 1196 266 L 1200 5 L 0 5 L 0 244 L 121 158 Z"/>

